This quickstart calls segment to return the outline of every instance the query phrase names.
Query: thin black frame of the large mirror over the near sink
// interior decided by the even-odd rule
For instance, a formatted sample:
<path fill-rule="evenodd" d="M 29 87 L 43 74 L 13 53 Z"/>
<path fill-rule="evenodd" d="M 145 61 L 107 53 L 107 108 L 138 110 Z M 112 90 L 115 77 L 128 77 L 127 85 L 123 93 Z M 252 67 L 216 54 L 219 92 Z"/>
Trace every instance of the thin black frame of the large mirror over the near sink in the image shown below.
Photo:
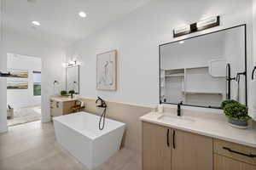
<path fill-rule="evenodd" d="M 208 33 L 205 33 L 205 34 L 201 34 L 201 35 L 198 35 L 198 36 L 194 36 L 194 37 L 188 37 L 188 38 L 183 38 L 183 39 L 179 39 L 179 40 L 175 40 L 173 42 L 166 42 L 166 43 L 163 43 L 163 44 L 160 44 L 159 45 L 159 103 L 160 104 L 171 104 L 171 105 L 177 105 L 176 103 L 167 103 L 167 102 L 161 102 L 161 98 L 160 98 L 160 59 L 161 59 L 161 53 L 160 53 L 160 48 L 161 46 L 164 46 L 164 45 L 167 45 L 167 44 L 172 44 L 172 43 L 175 43 L 175 42 L 180 42 L 180 41 L 184 41 L 184 40 L 189 40 L 189 39 L 192 39 L 192 38 L 195 38 L 195 37 L 202 37 L 202 36 L 206 36 L 208 34 L 213 34 L 213 33 L 217 33 L 219 31 L 226 31 L 226 30 L 230 30 L 230 29 L 233 29 L 233 28 L 236 28 L 236 27 L 243 27 L 244 29 L 244 41 L 245 41 L 245 71 L 246 71 L 246 75 L 245 75 L 245 99 L 246 99 L 246 105 L 247 105 L 247 25 L 246 24 L 242 24 L 242 25 L 239 25 L 239 26 L 232 26 L 232 27 L 229 27 L 229 28 L 224 28 L 222 30 L 218 30 L 218 31 L 212 31 L 212 32 L 208 32 Z M 185 105 L 185 104 L 183 104 Z M 221 109 L 219 107 L 211 107 L 211 106 L 202 106 L 202 105 L 187 105 L 187 106 L 194 106 L 194 107 L 201 107 L 201 108 L 211 108 L 211 109 Z"/>

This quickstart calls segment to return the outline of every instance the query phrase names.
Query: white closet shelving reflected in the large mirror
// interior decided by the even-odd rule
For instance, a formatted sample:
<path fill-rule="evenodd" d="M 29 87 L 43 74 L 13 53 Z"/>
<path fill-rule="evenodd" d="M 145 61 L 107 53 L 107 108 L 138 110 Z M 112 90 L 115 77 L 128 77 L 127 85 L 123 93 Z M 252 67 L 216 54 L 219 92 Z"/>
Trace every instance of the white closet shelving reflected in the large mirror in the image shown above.
<path fill-rule="evenodd" d="M 221 78 L 223 81 L 219 81 Z M 165 71 L 164 87 L 166 102 L 177 103 L 183 100 L 185 104 L 194 105 L 201 101 L 202 105 L 205 102 L 206 105 L 218 106 L 224 99 L 224 77 L 221 78 L 212 77 L 208 65 L 168 69 Z M 181 93 L 177 93 L 177 90 L 181 90 Z"/>

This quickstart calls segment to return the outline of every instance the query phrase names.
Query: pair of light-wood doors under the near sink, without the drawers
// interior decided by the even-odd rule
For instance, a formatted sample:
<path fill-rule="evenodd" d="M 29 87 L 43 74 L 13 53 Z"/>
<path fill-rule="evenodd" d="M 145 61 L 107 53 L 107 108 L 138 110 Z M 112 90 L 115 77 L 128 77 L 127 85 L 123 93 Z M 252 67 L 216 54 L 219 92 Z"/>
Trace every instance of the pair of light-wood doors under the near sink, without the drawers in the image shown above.
<path fill-rule="evenodd" d="M 212 138 L 143 122 L 143 170 L 211 170 Z"/>

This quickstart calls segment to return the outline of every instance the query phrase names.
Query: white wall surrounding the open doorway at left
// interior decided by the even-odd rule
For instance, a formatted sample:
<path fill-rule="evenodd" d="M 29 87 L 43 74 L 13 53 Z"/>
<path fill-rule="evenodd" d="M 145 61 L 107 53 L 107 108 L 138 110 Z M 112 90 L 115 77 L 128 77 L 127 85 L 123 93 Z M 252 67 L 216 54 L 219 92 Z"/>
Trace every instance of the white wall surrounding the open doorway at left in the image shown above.
<path fill-rule="evenodd" d="M 34 30 L 32 30 L 34 31 Z M 3 49 L 1 51 L 0 66 L 4 70 L 7 64 L 7 53 L 37 56 L 42 59 L 42 122 L 49 122 L 49 95 L 55 94 L 53 87 L 55 80 L 61 84 L 58 88 L 65 88 L 65 70 L 62 63 L 65 62 L 64 48 L 60 48 L 49 42 L 41 42 L 32 37 L 20 35 L 13 31 L 3 31 Z M 2 70 L 1 69 L 1 70 Z M 1 82 L 0 95 L 0 131 L 7 130 L 6 127 L 6 79 Z M 2 114 L 3 113 L 3 114 Z"/>

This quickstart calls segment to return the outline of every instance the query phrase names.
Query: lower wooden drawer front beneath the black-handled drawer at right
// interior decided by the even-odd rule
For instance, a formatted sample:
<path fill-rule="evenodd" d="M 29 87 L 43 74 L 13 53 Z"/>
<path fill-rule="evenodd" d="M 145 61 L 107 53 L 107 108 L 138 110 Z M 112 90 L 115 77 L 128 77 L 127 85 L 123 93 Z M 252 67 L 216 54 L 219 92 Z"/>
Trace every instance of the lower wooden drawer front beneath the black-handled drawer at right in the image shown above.
<path fill-rule="evenodd" d="M 253 165 L 214 154 L 214 170 L 255 170 Z"/>

